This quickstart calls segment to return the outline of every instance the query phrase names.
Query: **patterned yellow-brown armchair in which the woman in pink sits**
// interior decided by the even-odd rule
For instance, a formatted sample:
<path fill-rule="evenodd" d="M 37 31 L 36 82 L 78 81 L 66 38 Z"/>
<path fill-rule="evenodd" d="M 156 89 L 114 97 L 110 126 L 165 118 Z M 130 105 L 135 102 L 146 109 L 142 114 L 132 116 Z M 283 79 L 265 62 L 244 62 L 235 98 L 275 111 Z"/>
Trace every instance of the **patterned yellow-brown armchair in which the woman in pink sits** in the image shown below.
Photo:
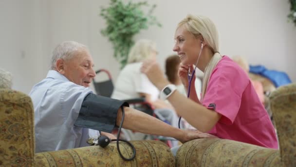
<path fill-rule="evenodd" d="M 177 167 L 296 167 L 296 84 L 270 95 L 279 150 L 223 139 L 197 139 L 177 152 Z"/>

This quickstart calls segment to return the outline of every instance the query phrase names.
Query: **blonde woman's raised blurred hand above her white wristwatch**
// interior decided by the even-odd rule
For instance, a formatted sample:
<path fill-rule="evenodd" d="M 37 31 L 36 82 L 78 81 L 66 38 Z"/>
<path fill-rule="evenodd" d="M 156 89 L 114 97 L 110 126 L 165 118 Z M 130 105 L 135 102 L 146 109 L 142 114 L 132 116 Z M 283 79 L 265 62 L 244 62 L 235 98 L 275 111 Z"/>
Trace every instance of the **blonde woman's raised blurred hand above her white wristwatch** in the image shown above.
<path fill-rule="evenodd" d="M 141 72 L 146 74 L 151 83 L 160 90 L 169 84 L 159 64 L 154 60 L 148 59 L 144 61 L 141 67 Z"/>

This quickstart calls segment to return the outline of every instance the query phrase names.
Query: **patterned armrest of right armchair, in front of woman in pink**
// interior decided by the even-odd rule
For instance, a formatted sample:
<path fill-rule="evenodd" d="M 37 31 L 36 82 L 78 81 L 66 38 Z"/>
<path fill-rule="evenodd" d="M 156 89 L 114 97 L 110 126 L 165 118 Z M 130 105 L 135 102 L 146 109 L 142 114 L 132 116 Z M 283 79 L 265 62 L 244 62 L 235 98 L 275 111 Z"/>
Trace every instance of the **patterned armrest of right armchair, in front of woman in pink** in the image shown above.
<path fill-rule="evenodd" d="M 280 167 L 279 151 L 226 139 L 196 139 L 183 144 L 176 167 Z"/>

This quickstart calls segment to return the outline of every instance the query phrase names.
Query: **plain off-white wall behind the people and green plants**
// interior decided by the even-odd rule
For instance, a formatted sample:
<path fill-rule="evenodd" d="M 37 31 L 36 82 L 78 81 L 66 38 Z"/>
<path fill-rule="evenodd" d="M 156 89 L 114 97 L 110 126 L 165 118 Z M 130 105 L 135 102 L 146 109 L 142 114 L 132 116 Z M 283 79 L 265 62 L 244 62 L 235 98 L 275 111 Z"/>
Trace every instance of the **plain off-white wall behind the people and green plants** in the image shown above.
<path fill-rule="evenodd" d="M 128 0 L 126 0 L 128 1 Z M 140 1 L 140 0 L 133 0 Z M 135 39 L 158 43 L 159 61 L 172 54 L 175 27 L 187 13 L 210 17 L 220 32 L 221 53 L 244 55 L 251 64 L 288 73 L 296 82 L 296 27 L 287 22 L 287 0 L 149 0 L 162 28 L 151 26 Z M 50 53 L 59 42 L 89 46 L 95 68 L 116 79 L 119 64 L 100 30 L 100 6 L 109 0 L 0 0 L 0 68 L 11 71 L 14 89 L 29 93 L 49 68 Z M 146 10 L 146 9 L 145 9 Z"/>

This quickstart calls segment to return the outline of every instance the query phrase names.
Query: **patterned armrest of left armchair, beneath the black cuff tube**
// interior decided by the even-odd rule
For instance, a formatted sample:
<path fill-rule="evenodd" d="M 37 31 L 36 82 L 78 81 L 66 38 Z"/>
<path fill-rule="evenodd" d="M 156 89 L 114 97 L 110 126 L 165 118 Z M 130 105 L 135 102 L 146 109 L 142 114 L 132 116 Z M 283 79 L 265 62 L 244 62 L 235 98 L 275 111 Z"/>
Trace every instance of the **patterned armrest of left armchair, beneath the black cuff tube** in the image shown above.
<path fill-rule="evenodd" d="M 37 167 L 175 167 L 175 157 L 168 146 L 160 141 L 131 141 L 136 148 L 136 157 L 124 161 L 118 154 L 116 143 L 107 147 L 87 146 L 35 155 Z M 121 153 L 125 157 L 132 155 L 132 149 L 120 142 Z"/>

